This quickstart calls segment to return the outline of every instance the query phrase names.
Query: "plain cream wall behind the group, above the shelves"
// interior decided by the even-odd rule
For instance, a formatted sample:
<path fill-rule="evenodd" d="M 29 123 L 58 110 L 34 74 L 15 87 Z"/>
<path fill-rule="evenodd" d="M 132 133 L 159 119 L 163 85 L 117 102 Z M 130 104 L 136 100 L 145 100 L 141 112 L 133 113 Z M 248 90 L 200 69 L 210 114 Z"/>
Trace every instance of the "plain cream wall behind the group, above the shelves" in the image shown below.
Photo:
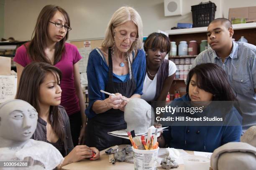
<path fill-rule="evenodd" d="M 246 3 L 240 0 L 211 1 L 217 6 L 215 18 L 219 18 L 223 12 L 228 12 L 230 3 L 253 6 L 256 0 L 246 0 Z M 164 17 L 164 0 L 6 0 L 4 37 L 30 40 L 38 14 L 48 4 L 59 5 L 67 10 L 72 27 L 69 40 L 82 40 L 104 37 L 111 15 L 124 5 L 134 7 L 141 15 L 143 35 L 146 36 L 157 30 L 169 30 L 177 26 L 178 22 L 192 23 L 191 5 L 200 2 L 202 0 L 183 0 L 182 16 Z"/>

